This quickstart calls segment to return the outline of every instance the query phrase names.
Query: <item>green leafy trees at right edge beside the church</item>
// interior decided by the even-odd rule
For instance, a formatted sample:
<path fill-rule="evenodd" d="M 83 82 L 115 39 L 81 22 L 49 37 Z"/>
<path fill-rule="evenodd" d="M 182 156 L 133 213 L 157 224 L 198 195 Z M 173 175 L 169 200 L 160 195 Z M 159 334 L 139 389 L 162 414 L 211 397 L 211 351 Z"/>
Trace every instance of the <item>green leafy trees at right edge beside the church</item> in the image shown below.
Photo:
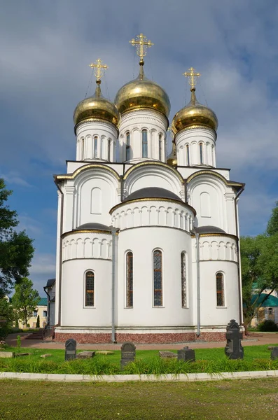
<path fill-rule="evenodd" d="M 240 244 L 243 315 L 244 325 L 248 327 L 267 297 L 278 290 L 278 202 L 272 210 L 265 235 L 242 237 Z M 262 293 L 265 296 L 260 299 Z M 252 298 L 254 294 L 255 299 Z"/>

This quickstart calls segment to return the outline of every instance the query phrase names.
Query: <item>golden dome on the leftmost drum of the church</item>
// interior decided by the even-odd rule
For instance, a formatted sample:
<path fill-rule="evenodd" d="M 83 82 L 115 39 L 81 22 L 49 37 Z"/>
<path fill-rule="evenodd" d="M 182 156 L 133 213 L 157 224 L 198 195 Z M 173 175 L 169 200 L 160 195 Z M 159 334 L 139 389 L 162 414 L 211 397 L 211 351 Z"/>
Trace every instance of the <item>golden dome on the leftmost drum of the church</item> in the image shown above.
<path fill-rule="evenodd" d="M 81 123 L 81 121 L 84 122 L 92 119 L 109 121 L 113 125 L 118 125 L 120 120 L 120 115 L 115 104 L 102 96 L 100 80 L 97 80 L 95 94 L 79 102 L 74 111 L 75 125 Z"/>

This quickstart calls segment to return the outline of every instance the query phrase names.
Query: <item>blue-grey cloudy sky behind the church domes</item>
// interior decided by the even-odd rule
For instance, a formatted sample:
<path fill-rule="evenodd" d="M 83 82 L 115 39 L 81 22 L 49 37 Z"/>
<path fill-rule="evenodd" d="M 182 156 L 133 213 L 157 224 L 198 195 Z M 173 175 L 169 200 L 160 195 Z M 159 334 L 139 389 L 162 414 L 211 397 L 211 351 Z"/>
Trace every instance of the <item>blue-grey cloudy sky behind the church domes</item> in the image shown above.
<path fill-rule="evenodd" d="M 109 65 L 106 97 L 137 76 L 128 41 L 155 44 L 146 76 L 189 99 L 181 75 L 202 73 L 197 99 L 218 116 L 217 166 L 246 183 L 242 235 L 263 232 L 277 199 L 277 0 L 0 0 L 0 176 L 20 228 L 34 238 L 30 278 L 39 293 L 55 273 L 57 193 L 53 174 L 75 158 L 72 115 L 90 85 L 90 62 Z M 89 92 L 90 91 L 89 88 Z M 169 141 L 170 144 L 170 141 Z"/>

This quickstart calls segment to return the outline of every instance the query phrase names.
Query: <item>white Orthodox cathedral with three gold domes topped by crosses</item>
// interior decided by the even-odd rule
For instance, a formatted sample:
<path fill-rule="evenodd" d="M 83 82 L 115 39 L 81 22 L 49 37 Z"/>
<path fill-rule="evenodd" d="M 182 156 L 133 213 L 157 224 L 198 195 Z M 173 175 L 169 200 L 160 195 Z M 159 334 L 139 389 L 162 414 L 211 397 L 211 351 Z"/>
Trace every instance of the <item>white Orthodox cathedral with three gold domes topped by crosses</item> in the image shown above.
<path fill-rule="evenodd" d="M 95 94 L 74 111 L 76 160 L 58 192 L 55 339 L 79 343 L 225 339 L 242 322 L 237 202 L 244 184 L 216 166 L 218 120 L 197 101 L 169 125 L 165 90 L 139 75 L 105 99 L 106 65 L 90 64 Z M 167 130 L 172 153 L 167 156 Z M 219 139 L 218 141 L 221 141 Z"/>

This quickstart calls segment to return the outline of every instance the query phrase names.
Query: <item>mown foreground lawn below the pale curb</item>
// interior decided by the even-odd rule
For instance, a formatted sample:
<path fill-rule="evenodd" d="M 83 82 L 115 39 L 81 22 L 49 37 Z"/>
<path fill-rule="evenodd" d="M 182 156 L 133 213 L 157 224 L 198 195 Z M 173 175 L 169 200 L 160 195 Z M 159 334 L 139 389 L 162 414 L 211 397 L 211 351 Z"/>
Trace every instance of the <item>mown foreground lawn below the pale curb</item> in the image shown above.
<path fill-rule="evenodd" d="M 0 381 L 1 420 L 277 419 L 278 379 L 190 383 Z"/>

